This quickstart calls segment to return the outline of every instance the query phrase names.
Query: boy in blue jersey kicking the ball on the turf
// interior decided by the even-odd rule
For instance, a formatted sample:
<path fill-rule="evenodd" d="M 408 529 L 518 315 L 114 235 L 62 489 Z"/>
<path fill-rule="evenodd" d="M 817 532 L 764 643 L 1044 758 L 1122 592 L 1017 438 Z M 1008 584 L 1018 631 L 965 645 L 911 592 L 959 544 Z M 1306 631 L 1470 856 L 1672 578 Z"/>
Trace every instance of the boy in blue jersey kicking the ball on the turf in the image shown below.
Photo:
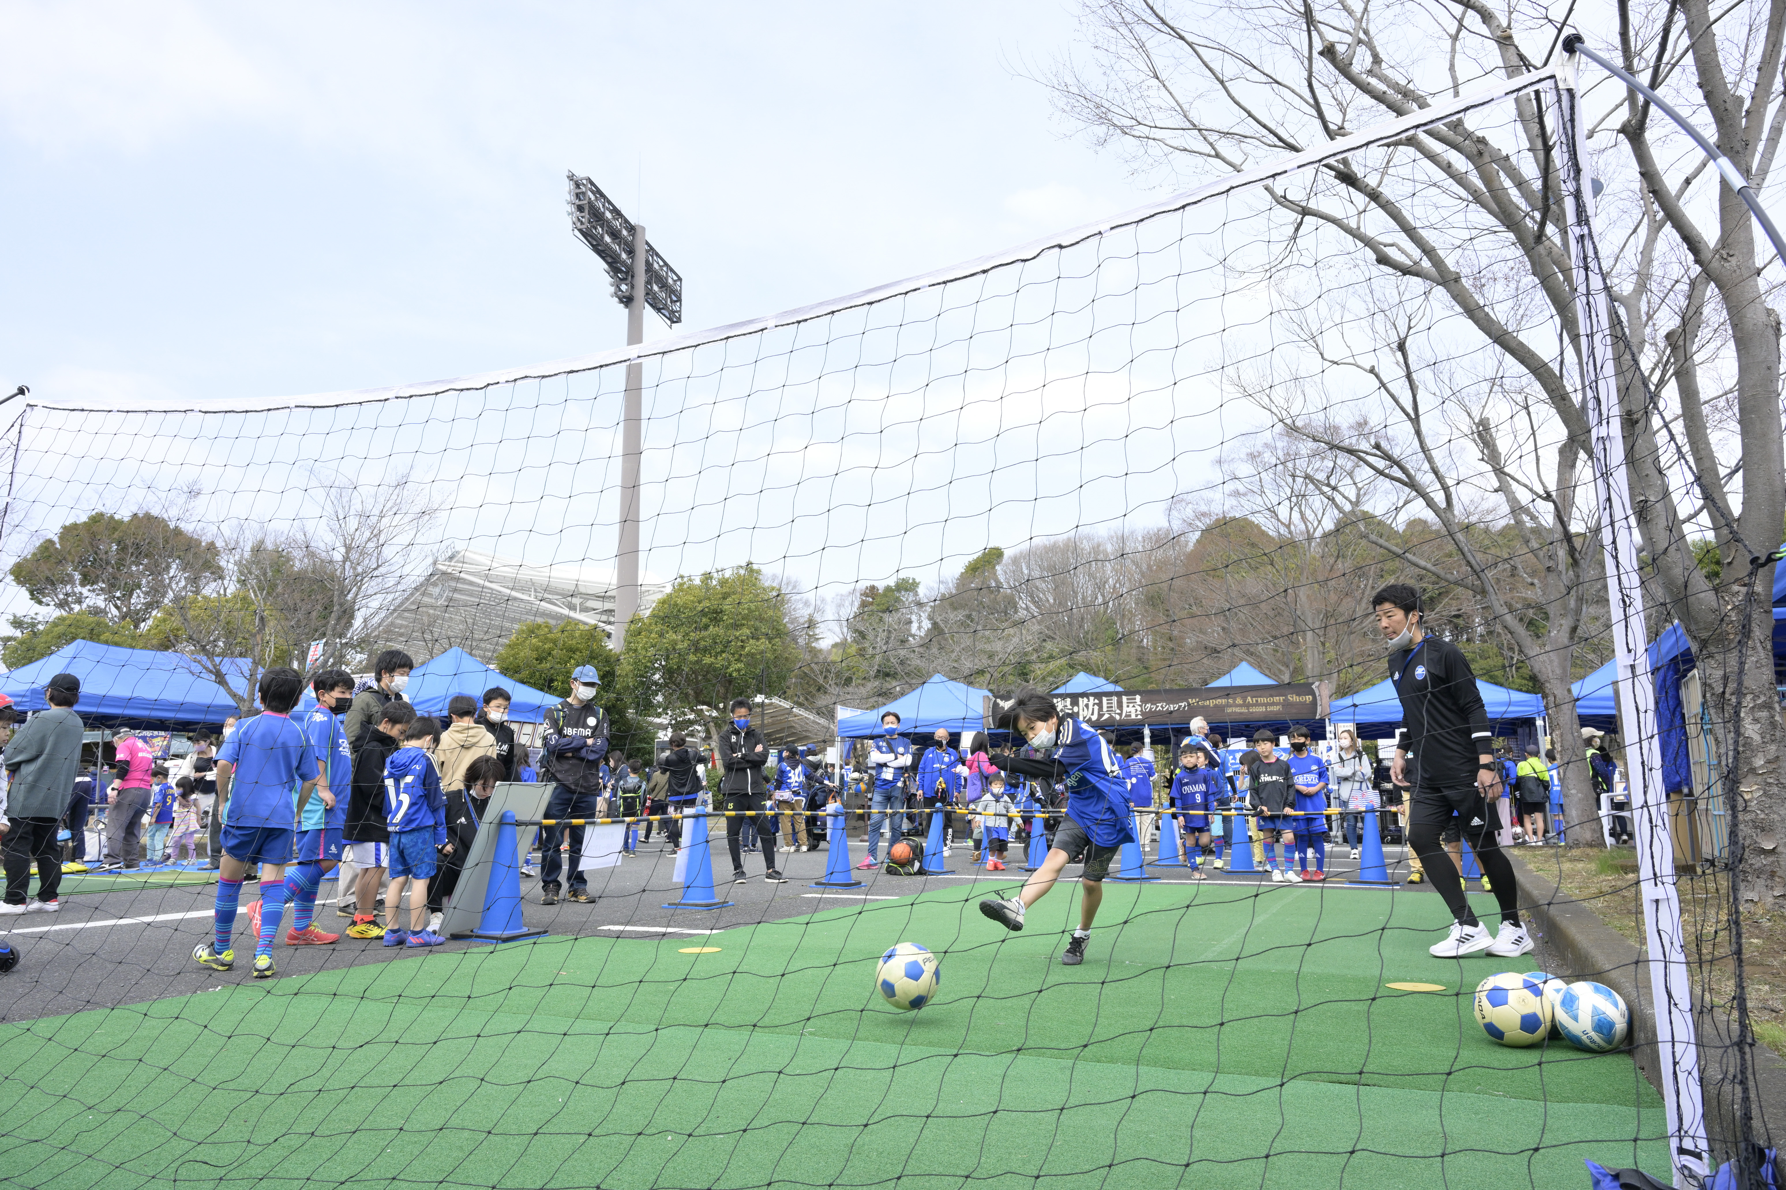
<path fill-rule="evenodd" d="M 1061 962 L 1077 967 L 1086 962 L 1091 922 L 1104 901 L 1104 878 L 1111 860 L 1125 842 L 1134 842 L 1129 828 L 1129 781 L 1111 746 L 1082 721 L 1063 717 L 1054 699 L 1036 690 L 1018 694 L 1009 710 L 1011 726 L 1047 758 L 1022 758 L 993 753 L 989 760 L 1004 773 L 1022 773 L 1043 781 L 1066 785 L 1066 817 L 1054 831 L 1054 846 L 1023 888 L 1009 901 L 981 901 L 981 912 L 1006 930 L 1023 928 L 1023 912 L 1045 897 L 1068 864 L 1084 864 L 1079 878 L 1082 892 L 1079 930 L 1073 931 Z"/>

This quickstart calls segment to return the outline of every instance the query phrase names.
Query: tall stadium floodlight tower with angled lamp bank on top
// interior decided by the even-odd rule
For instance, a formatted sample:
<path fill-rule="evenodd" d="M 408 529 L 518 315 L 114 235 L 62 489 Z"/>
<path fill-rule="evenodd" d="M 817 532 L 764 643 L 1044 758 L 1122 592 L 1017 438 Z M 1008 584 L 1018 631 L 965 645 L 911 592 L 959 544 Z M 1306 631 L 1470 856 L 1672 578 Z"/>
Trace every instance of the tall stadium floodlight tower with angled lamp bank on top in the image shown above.
<path fill-rule="evenodd" d="M 589 178 L 570 178 L 570 227 L 607 268 L 614 300 L 627 307 L 627 346 L 645 343 L 645 307 L 675 326 L 682 321 L 682 275 L 645 239 L 645 225 Z M 614 551 L 614 649 L 639 610 L 639 421 L 645 366 L 627 364 L 627 400 L 620 417 L 620 548 Z"/>

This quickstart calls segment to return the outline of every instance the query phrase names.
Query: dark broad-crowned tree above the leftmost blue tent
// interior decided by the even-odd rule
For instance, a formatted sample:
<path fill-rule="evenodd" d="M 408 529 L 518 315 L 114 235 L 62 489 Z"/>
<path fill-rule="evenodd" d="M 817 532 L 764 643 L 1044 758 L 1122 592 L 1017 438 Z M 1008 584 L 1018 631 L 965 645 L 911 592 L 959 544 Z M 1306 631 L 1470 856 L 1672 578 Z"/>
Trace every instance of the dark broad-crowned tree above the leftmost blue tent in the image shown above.
<path fill-rule="evenodd" d="M 170 599 L 202 589 L 220 571 L 216 544 L 152 512 L 95 512 L 38 542 L 9 573 L 32 603 L 139 630 Z"/>

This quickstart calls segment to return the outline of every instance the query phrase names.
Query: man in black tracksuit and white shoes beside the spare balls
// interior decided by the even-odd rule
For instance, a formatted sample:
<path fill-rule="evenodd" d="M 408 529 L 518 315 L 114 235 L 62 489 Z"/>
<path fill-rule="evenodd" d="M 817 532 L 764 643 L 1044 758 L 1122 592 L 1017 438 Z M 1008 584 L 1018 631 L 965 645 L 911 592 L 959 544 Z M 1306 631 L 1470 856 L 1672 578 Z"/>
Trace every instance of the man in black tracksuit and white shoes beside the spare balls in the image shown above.
<path fill-rule="evenodd" d="M 1450 937 L 1431 947 L 1440 958 L 1459 958 L 1488 951 L 1513 958 L 1532 949 L 1520 924 L 1520 890 L 1513 864 L 1500 851 L 1500 808 L 1504 794 L 1500 765 L 1495 762 L 1488 731 L 1488 710 L 1475 687 L 1470 662 L 1450 640 L 1427 633 L 1420 623 L 1420 592 L 1407 583 L 1391 583 L 1370 599 L 1377 628 L 1390 642 L 1390 682 L 1402 699 L 1406 728 L 1390 762 L 1391 780 L 1400 780 L 1409 760 L 1418 760 L 1416 785 L 1407 806 L 1407 842 L 1420 856 L 1427 880 L 1450 908 L 1456 924 Z M 1491 937 L 1470 910 L 1463 878 L 1443 833 L 1456 824 L 1475 851 L 1477 864 L 1493 881 L 1500 903 L 1500 933 Z"/>

